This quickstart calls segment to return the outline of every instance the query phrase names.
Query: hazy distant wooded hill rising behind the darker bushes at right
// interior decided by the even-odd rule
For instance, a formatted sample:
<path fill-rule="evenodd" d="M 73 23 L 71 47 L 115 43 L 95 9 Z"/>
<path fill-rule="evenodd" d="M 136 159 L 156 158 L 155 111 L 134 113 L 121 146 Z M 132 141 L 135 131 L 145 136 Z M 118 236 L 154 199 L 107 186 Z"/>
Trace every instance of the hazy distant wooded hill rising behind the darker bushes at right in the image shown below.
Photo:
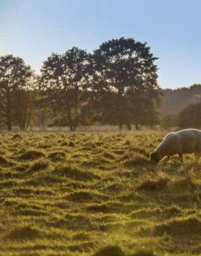
<path fill-rule="evenodd" d="M 189 88 L 178 88 L 176 90 L 163 90 L 163 102 L 161 113 L 177 114 L 190 103 L 198 103 L 201 100 L 201 84 L 193 84 Z"/>

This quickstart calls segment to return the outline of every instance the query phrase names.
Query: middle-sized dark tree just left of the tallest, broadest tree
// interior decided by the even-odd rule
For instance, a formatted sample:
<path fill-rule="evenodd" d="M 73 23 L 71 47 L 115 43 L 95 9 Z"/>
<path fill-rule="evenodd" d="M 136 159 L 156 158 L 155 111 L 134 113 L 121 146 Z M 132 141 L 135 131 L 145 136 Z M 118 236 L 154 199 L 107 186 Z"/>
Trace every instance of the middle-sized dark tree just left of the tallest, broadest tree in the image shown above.
<path fill-rule="evenodd" d="M 52 53 L 41 68 L 40 89 L 54 108 L 54 124 L 68 125 L 71 131 L 86 119 L 87 59 L 86 51 L 73 47 L 64 54 Z"/>

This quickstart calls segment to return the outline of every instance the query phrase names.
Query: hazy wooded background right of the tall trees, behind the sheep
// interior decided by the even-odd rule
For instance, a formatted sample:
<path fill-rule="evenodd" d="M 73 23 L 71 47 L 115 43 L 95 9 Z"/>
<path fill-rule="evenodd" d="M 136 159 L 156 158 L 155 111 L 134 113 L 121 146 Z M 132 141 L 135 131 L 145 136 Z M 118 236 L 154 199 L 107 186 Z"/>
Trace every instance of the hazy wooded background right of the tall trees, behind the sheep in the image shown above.
<path fill-rule="evenodd" d="M 167 110 L 170 112 L 161 116 L 161 128 L 181 127 L 187 129 L 191 127 L 200 129 L 201 84 L 192 84 L 188 88 L 177 88 L 176 90 L 163 90 L 163 92 L 164 100 L 161 110 L 163 113 Z"/>

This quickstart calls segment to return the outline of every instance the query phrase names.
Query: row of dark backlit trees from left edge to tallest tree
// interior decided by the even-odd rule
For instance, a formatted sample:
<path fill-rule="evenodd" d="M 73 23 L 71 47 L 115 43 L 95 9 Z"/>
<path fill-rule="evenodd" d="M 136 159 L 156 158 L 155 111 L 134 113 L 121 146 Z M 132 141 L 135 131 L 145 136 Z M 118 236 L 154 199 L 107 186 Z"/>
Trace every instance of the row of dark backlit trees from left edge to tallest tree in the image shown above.
<path fill-rule="evenodd" d="M 162 92 L 158 58 L 147 43 L 112 39 L 93 53 L 73 47 L 52 52 L 41 75 L 11 54 L 0 57 L 0 123 L 27 130 L 30 125 L 158 124 Z"/>

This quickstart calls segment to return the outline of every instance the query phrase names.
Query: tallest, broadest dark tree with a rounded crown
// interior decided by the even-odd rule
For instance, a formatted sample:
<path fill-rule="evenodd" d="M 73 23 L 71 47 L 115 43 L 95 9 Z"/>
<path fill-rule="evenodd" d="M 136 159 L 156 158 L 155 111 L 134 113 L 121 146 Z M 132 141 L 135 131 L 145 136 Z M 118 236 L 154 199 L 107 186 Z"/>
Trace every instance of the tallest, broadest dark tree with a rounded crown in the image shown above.
<path fill-rule="evenodd" d="M 90 58 L 93 108 L 101 123 L 119 125 L 152 124 L 161 102 L 157 66 L 147 43 L 119 38 L 100 45 Z M 147 108 L 150 106 L 151 108 Z M 150 118 L 151 114 L 151 118 Z"/>

